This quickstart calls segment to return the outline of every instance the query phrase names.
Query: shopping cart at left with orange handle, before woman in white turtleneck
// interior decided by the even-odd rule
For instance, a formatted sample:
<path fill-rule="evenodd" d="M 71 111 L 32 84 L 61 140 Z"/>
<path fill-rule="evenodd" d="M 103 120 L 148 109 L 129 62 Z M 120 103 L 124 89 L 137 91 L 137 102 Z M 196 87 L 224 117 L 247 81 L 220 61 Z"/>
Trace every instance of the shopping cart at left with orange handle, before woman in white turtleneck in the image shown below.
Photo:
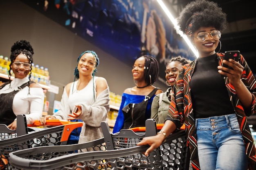
<path fill-rule="evenodd" d="M 57 119 L 46 121 L 44 126 L 50 128 L 28 128 L 28 126 L 37 127 L 42 125 L 39 121 L 27 125 L 25 115 L 17 115 L 16 130 L 10 130 L 6 125 L 0 125 L 0 133 L 2 134 L 0 140 L 0 170 L 7 169 L 10 152 L 38 146 L 65 145 L 72 130 L 82 125 L 82 122 Z"/>

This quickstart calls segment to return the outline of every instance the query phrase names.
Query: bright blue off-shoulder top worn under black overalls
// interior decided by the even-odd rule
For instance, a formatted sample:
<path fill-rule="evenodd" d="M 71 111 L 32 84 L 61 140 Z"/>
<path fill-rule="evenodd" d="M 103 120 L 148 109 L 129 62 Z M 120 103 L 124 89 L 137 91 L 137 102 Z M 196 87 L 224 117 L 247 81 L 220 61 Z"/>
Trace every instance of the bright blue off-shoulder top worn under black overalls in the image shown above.
<path fill-rule="evenodd" d="M 146 119 L 150 119 L 150 115 L 151 115 L 151 104 L 153 101 L 153 98 L 155 97 L 155 95 L 153 95 L 153 97 L 151 97 L 148 100 L 148 106 L 146 108 L 146 114 L 145 114 L 145 121 Z M 123 93 L 122 95 L 122 102 L 118 111 L 118 115 L 117 115 L 117 119 L 116 119 L 116 123 L 113 129 L 113 133 L 115 132 L 119 132 L 123 126 L 124 126 L 124 114 L 122 112 L 122 108 L 124 108 L 124 106 L 126 106 L 129 103 L 140 103 L 145 99 L 145 95 L 130 95 L 127 93 Z"/>

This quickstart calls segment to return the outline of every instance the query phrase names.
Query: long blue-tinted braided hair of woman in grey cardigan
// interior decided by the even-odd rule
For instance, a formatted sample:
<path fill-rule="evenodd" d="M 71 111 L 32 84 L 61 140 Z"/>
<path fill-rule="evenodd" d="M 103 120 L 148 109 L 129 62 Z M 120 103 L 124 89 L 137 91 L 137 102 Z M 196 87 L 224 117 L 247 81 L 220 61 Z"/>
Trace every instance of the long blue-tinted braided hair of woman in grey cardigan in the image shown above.
<path fill-rule="evenodd" d="M 74 82 L 75 82 L 76 78 L 79 79 L 79 71 L 78 71 L 77 67 L 78 67 L 78 63 L 79 63 L 81 57 L 82 57 L 85 53 L 92 53 L 92 55 L 94 56 L 94 70 L 93 70 L 93 72 L 92 72 L 92 81 L 93 81 L 93 88 L 94 88 L 94 75 L 95 75 L 95 73 L 97 73 L 97 71 L 98 71 L 98 70 L 97 70 L 97 66 L 99 66 L 99 57 L 98 57 L 98 55 L 95 53 L 95 51 L 87 50 L 87 51 L 84 51 L 83 53 L 81 53 L 81 54 L 79 55 L 79 57 L 78 57 L 78 59 L 77 59 L 76 68 L 74 69 L 74 71 L 75 71 L 75 73 L 74 73 L 74 75 L 75 75 L 75 77 L 74 77 Z M 74 89 L 74 82 L 73 82 L 72 93 L 73 93 L 73 89 Z M 94 98 L 94 101 L 95 101 L 94 91 L 93 91 L 93 98 Z"/>

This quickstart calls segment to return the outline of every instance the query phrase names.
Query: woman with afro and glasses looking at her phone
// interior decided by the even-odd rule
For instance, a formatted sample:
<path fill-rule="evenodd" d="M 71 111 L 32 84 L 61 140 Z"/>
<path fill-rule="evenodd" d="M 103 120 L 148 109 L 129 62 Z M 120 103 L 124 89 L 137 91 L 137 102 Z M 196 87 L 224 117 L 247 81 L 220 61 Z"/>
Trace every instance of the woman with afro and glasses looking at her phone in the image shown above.
<path fill-rule="evenodd" d="M 193 170 L 255 170 L 246 116 L 256 113 L 256 81 L 243 55 L 236 62 L 216 52 L 226 14 L 215 2 L 195 0 L 182 10 L 177 23 L 199 57 L 181 68 L 162 130 L 138 145 L 149 144 L 148 155 L 185 124 Z"/>

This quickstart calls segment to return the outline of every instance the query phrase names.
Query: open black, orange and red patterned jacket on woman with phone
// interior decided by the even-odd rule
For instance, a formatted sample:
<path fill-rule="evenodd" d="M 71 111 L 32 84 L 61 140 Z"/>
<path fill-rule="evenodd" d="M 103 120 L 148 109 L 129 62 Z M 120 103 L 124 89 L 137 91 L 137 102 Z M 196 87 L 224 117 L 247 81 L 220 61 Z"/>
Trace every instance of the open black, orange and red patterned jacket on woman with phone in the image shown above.
<path fill-rule="evenodd" d="M 223 60 L 224 54 L 218 53 L 217 57 L 219 59 L 219 65 Z M 193 115 L 193 105 L 191 102 L 191 93 L 190 93 L 190 80 L 195 69 L 197 60 L 194 60 L 190 64 L 186 64 L 183 68 L 180 69 L 180 73 L 177 76 L 175 85 L 173 88 L 173 97 L 171 104 L 169 106 L 169 117 L 167 119 L 172 120 L 177 128 L 179 129 L 182 124 L 186 126 L 186 135 L 187 135 L 187 144 L 190 149 L 192 167 L 194 170 L 200 170 L 200 165 L 198 161 L 198 150 L 197 150 L 197 140 L 195 137 L 195 119 Z M 255 77 L 249 68 L 244 57 L 240 55 L 239 62 L 244 67 L 244 71 L 241 76 L 241 80 L 252 93 L 252 109 L 248 113 L 245 113 L 245 110 L 242 107 L 241 102 L 236 95 L 234 87 L 229 84 L 229 79 L 225 77 L 227 91 L 229 93 L 230 101 L 232 102 L 234 109 L 236 111 L 236 116 L 238 118 L 240 130 L 243 135 L 243 140 L 245 143 L 245 149 L 247 153 L 249 170 L 255 170 L 256 168 L 256 153 L 254 140 L 249 129 L 248 121 L 246 116 L 250 116 L 256 113 L 256 80 Z M 235 155 L 234 155 L 235 156 Z"/>

